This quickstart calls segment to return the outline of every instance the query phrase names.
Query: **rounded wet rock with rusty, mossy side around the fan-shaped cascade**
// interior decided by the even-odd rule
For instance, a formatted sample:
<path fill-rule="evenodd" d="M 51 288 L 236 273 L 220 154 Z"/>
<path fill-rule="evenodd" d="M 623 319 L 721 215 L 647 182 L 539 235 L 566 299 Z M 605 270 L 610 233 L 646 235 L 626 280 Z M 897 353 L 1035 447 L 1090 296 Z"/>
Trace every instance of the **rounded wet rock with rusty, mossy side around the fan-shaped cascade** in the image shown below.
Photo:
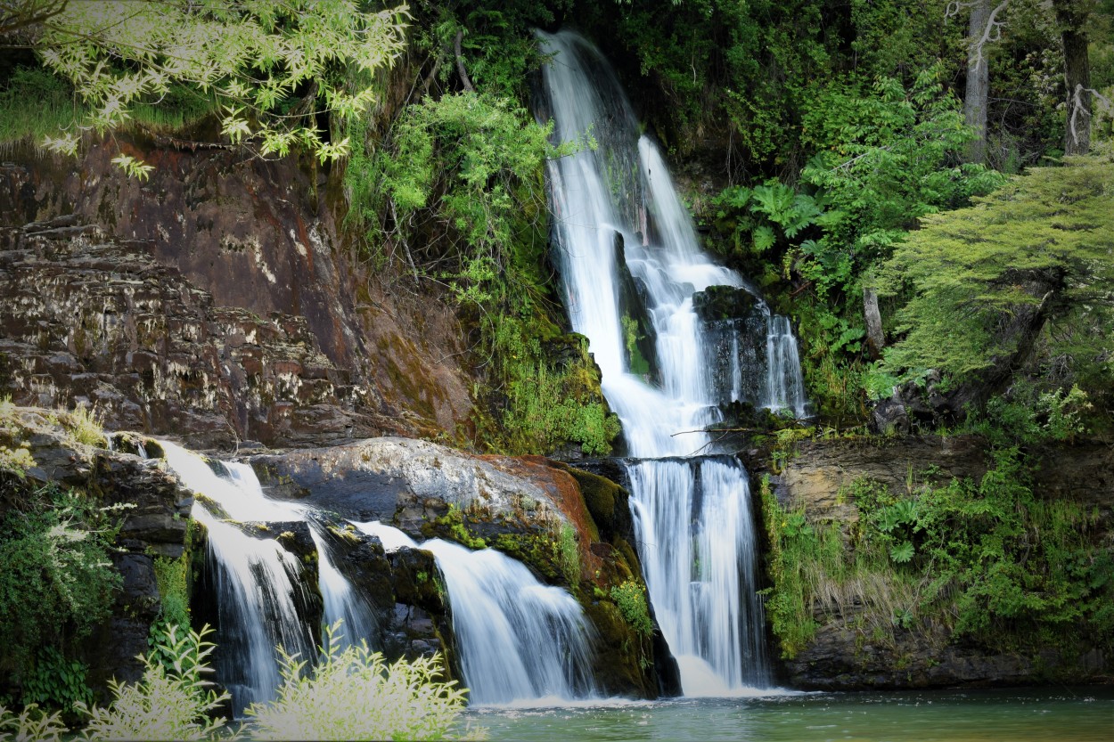
<path fill-rule="evenodd" d="M 608 593 L 625 580 L 642 582 L 631 546 L 627 494 L 614 482 L 541 457 L 477 457 L 404 438 L 256 455 L 247 461 L 272 497 L 312 504 L 345 519 L 381 520 L 419 541 L 437 537 L 473 549 L 498 548 L 522 562 L 541 582 L 569 589 L 585 607 L 597 633 L 595 677 L 602 692 L 658 695 L 655 645 L 634 635 Z M 428 553 L 387 555 L 397 606 L 394 623 L 381 617 L 392 626 L 384 637 L 410 652 L 439 642 L 451 655 L 451 621 L 441 598 L 429 592 L 436 572 L 414 566 L 417 554 Z"/>

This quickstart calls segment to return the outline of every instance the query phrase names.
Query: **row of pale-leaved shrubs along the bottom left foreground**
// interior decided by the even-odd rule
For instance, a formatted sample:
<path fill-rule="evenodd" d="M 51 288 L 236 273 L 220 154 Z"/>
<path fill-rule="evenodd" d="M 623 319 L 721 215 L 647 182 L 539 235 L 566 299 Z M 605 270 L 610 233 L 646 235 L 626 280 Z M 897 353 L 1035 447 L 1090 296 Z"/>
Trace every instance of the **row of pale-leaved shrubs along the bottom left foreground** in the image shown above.
<path fill-rule="evenodd" d="M 110 702 L 79 702 L 77 722 L 29 704 L 13 713 L 0 704 L 0 740 L 441 740 L 483 739 L 486 730 L 460 724 L 468 691 L 442 682 L 440 655 L 388 663 L 365 642 L 341 641 L 340 622 L 325 631 L 313 662 L 280 646 L 277 697 L 253 704 L 233 728 L 221 710 L 231 700 L 208 680 L 212 632 L 168 625 L 140 656 L 143 676 L 113 681 Z M 167 662 L 166 658 L 172 658 Z"/>

